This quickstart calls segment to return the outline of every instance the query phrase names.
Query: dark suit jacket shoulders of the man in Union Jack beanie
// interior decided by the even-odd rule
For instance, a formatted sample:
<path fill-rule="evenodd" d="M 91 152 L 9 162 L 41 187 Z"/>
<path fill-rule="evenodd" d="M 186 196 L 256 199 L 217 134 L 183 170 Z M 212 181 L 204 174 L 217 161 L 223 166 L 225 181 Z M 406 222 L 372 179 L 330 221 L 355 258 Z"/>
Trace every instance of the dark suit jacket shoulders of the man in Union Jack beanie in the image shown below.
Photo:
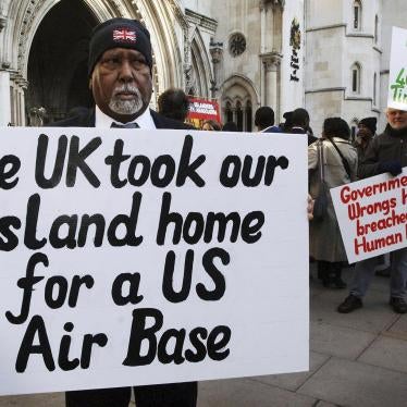
<path fill-rule="evenodd" d="M 157 128 L 172 128 L 172 130 L 196 130 L 189 124 L 177 122 L 176 120 L 168 119 L 162 114 L 150 110 L 152 120 Z M 58 122 L 48 124 L 50 127 L 95 127 L 95 109 L 89 109 L 79 115 L 60 120 Z"/>

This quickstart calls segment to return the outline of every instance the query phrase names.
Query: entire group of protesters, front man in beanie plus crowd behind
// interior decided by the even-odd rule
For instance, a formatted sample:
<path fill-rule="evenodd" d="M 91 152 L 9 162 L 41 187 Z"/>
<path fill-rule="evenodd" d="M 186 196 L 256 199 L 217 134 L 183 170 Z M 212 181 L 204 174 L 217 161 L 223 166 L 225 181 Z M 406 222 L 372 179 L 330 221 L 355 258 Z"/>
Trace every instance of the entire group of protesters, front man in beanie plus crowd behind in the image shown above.
<path fill-rule="evenodd" d="M 116 36 L 126 29 L 134 36 Z M 194 128 L 184 123 L 188 114 L 188 98 L 181 89 L 169 89 L 158 99 L 159 112 L 149 109 L 152 95 L 152 50 L 150 34 L 138 21 L 112 18 L 98 25 L 89 45 L 88 74 L 95 99 L 92 109 L 75 112 L 54 126 Z M 310 118 L 303 109 L 284 114 L 285 122 L 274 123 L 274 111 L 261 107 L 256 111 L 258 132 L 304 134 L 308 139 L 309 192 L 319 194 L 321 178 L 328 188 L 377 174 L 393 176 L 407 165 L 407 111 L 387 109 L 387 125 L 375 135 L 377 121 L 367 118 L 359 122 L 356 139 L 350 140 L 348 124 L 341 118 L 328 118 L 320 137 L 312 134 Z M 237 131 L 234 123 L 203 121 L 205 131 Z M 318 262 L 318 278 L 328 288 L 345 288 L 342 268 L 346 254 L 328 194 L 328 209 L 322 219 L 310 221 L 310 255 Z M 394 311 L 407 312 L 404 300 L 407 275 L 407 249 L 391 257 L 391 299 Z M 350 294 L 340 305 L 340 312 L 350 312 L 362 306 L 377 258 L 360 261 L 355 267 Z M 67 407 L 128 406 L 131 387 L 75 391 L 66 393 Z M 171 383 L 135 387 L 139 407 L 194 407 L 197 383 Z"/>

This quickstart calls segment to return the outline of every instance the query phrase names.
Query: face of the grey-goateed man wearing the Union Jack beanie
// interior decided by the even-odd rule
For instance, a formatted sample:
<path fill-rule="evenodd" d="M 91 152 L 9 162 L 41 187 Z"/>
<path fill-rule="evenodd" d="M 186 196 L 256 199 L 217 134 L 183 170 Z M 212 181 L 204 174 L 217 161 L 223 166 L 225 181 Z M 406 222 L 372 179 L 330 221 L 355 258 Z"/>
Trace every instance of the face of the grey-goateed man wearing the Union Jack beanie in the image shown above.
<path fill-rule="evenodd" d="M 109 49 L 95 65 L 90 87 L 100 110 L 126 123 L 138 118 L 150 102 L 150 69 L 143 53 L 136 50 Z"/>

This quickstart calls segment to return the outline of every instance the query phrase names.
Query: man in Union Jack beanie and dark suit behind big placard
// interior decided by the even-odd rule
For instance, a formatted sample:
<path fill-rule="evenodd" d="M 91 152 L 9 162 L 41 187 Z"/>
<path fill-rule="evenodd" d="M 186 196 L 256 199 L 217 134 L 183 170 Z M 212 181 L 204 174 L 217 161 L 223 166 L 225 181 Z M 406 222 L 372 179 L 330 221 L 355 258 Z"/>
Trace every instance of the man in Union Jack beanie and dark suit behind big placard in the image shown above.
<path fill-rule="evenodd" d="M 124 33 L 124 34 L 123 34 Z M 150 34 L 135 20 L 112 18 L 95 27 L 88 74 L 95 108 L 53 126 L 189 128 L 148 108 L 152 94 Z M 114 374 L 114 372 L 112 372 Z M 66 392 L 67 407 L 128 407 L 131 387 Z M 197 383 L 135 387 L 137 407 L 195 407 Z"/>

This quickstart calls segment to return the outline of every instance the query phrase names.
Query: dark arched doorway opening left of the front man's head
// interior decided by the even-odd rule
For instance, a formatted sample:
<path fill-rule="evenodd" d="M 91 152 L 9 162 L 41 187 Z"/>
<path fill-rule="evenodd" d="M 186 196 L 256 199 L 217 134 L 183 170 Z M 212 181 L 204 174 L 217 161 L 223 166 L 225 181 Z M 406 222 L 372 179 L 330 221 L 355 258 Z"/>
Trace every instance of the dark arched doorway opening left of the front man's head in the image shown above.
<path fill-rule="evenodd" d="M 29 50 L 27 123 L 38 125 L 38 111 L 49 123 L 65 118 L 73 108 L 92 104 L 87 57 L 97 23 L 82 0 L 61 0 L 44 17 Z"/>

